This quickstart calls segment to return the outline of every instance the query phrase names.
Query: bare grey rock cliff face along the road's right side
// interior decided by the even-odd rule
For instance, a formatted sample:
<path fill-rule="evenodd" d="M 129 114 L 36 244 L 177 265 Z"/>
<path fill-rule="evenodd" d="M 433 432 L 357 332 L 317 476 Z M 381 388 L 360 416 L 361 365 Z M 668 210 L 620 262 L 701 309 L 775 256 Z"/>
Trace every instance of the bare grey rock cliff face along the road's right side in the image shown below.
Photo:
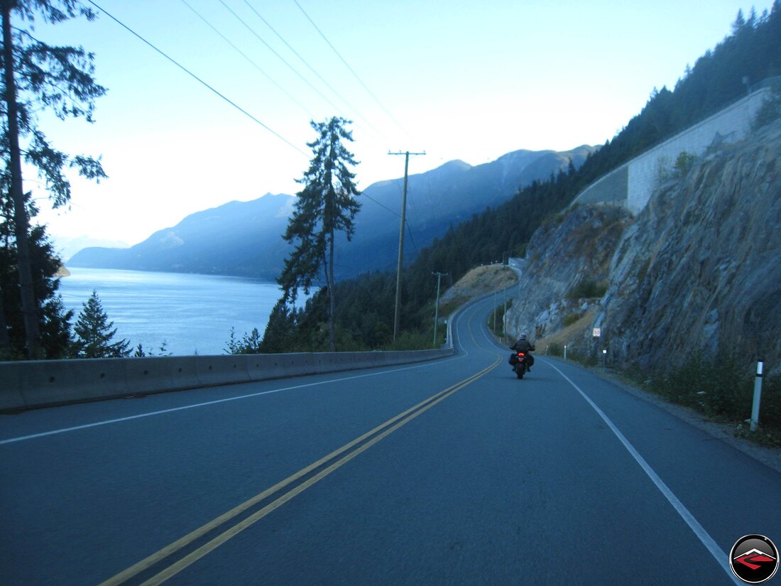
<path fill-rule="evenodd" d="M 622 223 L 592 324 L 612 363 L 654 368 L 704 349 L 763 358 L 768 370 L 781 371 L 779 171 L 781 121 L 708 153 Z M 510 331 L 539 333 L 573 271 L 595 270 L 589 263 L 608 253 L 607 242 L 604 251 L 595 242 L 575 245 L 588 225 L 587 210 L 576 210 L 552 234 L 535 234 L 527 254 L 542 262 L 529 263 L 530 297 L 509 313 Z M 596 351 L 590 328 L 573 342 L 580 352 Z"/>

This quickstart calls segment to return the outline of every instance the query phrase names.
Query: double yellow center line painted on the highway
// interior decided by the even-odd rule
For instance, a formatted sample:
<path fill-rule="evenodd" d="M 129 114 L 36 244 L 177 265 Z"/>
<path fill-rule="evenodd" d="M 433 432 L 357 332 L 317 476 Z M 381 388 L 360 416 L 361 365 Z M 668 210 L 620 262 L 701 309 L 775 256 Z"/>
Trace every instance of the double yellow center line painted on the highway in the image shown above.
<path fill-rule="evenodd" d="M 490 370 L 493 370 L 499 362 L 500 359 L 497 358 L 493 364 L 487 366 L 487 368 L 483 370 L 480 370 L 480 372 L 475 373 L 472 376 L 465 378 L 463 381 L 460 381 L 451 387 L 444 389 L 444 391 L 438 392 L 436 395 L 432 395 L 431 397 L 426 398 L 424 401 L 419 402 L 417 405 L 407 409 L 405 412 L 399 413 L 397 416 L 392 417 L 385 423 L 378 425 L 372 431 L 367 431 L 366 434 L 355 438 L 353 441 L 350 441 L 341 448 L 331 452 L 328 454 L 328 456 L 324 456 L 315 463 L 306 466 L 297 473 L 294 473 L 292 476 L 285 478 L 284 481 L 280 481 L 274 484 L 272 487 L 262 491 L 259 495 L 255 495 L 248 501 L 242 502 L 241 505 L 230 509 L 230 511 L 223 513 L 216 519 L 209 521 L 209 523 L 206 523 L 205 525 L 198 527 L 198 529 L 191 531 L 191 533 L 188 533 L 183 538 L 177 539 L 177 541 L 174 541 L 170 545 L 166 545 L 166 547 L 153 553 L 152 556 L 148 556 L 147 558 L 142 559 L 140 562 L 127 568 L 127 570 L 124 570 L 123 572 L 116 574 L 116 576 L 109 578 L 109 580 L 102 582 L 100 586 L 115 586 L 116 584 L 123 584 L 124 582 L 130 580 L 130 578 L 136 576 L 138 573 L 155 566 L 155 564 L 161 563 L 162 560 L 172 556 L 180 549 L 185 548 L 187 545 L 190 545 L 199 538 L 204 537 L 205 534 L 216 530 L 218 527 L 227 523 L 235 516 L 244 513 L 244 511 L 251 509 L 251 507 L 280 492 L 280 495 L 277 496 L 273 502 L 269 502 L 269 504 L 263 506 L 262 509 L 259 509 L 250 516 L 245 517 L 243 520 L 227 528 L 216 537 L 207 541 L 204 545 L 194 549 L 192 552 L 180 558 L 177 562 L 171 564 L 170 566 L 167 566 L 165 569 L 161 570 L 159 573 L 155 574 L 155 576 L 149 578 L 148 581 L 143 583 L 144 586 L 162 584 L 162 582 L 168 580 L 169 577 L 174 576 L 181 570 L 184 570 L 184 568 L 187 566 L 190 566 L 191 563 L 196 562 L 198 559 L 201 559 L 209 552 L 212 552 L 212 550 L 218 548 L 220 545 L 223 545 L 223 543 L 234 537 L 234 535 L 239 534 L 241 531 L 244 531 L 244 529 L 247 529 L 254 523 L 257 523 L 273 510 L 278 509 L 280 506 L 284 505 L 285 502 L 311 487 L 312 484 L 316 484 L 318 481 L 332 473 L 333 470 L 337 470 L 337 468 L 343 466 L 345 463 L 348 463 L 351 459 L 355 458 L 355 456 L 358 456 L 358 454 L 365 452 L 378 441 L 386 438 L 388 435 L 398 430 L 399 427 L 405 425 L 405 423 L 409 423 L 421 413 L 424 413 L 426 410 L 431 409 L 431 407 L 437 405 L 438 402 L 444 401 L 444 399 L 448 398 L 450 395 L 453 395 L 455 392 L 460 391 L 468 384 L 471 384 L 480 377 L 483 377 L 483 375 L 490 372 Z M 312 477 L 309 477 L 305 481 L 301 482 L 301 484 L 295 484 L 295 486 L 289 488 L 287 491 L 284 491 L 284 489 L 290 487 L 291 484 L 296 483 L 297 481 L 301 480 L 301 478 L 312 472 L 315 472 L 315 470 L 318 470 L 319 468 L 322 468 L 322 470 L 319 470 L 319 472 L 312 475 Z"/>

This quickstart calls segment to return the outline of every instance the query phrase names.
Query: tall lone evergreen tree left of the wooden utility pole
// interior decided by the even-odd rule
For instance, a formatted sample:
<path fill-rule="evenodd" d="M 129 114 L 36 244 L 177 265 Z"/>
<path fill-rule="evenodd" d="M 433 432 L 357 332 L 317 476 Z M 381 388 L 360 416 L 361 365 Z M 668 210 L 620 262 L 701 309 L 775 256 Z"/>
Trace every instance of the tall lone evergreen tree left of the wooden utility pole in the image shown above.
<path fill-rule="evenodd" d="M 284 302 L 295 301 L 298 288 L 308 293 L 312 282 L 321 271 L 326 279 L 329 299 L 328 341 L 335 350 L 336 334 L 333 327 L 334 282 L 333 245 L 337 230 L 344 230 L 348 240 L 355 232 L 355 214 L 360 203 L 355 186 L 355 173 L 349 167 L 358 163 L 342 141 L 352 141 L 346 129 L 349 120 L 334 116 L 326 122 L 312 122 L 319 134 L 308 143 L 314 156 L 309 168 L 298 183 L 304 188 L 298 192 L 295 211 L 284 234 L 284 239 L 296 243 L 294 251 L 285 260 L 284 270 L 277 282 L 284 291 Z"/>

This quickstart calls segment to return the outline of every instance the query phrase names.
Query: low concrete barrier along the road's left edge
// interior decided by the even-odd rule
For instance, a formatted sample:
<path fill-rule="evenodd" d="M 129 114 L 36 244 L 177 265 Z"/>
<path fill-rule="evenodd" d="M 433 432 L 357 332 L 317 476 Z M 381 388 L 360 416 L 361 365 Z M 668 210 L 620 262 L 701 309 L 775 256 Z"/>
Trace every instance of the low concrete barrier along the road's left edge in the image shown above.
<path fill-rule="evenodd" d="M 0 412 L 444 358 L 453 348 L 0 363 Z"/>

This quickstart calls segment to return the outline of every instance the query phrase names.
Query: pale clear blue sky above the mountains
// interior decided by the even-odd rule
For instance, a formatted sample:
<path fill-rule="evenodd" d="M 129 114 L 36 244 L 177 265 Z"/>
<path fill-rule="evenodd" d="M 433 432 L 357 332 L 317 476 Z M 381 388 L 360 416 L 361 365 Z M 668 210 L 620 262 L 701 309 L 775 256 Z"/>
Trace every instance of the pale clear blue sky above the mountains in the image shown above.
<path fill-rule="evenodd" d="M 74 179 L 70 211 L 42 217 L 55 238 L 129 244 L 200 209 L 298 191 L 313 138 L 308 122 L 334 114 L 355 120 L 352 150 L 363 188 L 403 174 L 403 158 L 389 150 L 425 150 L 410 163 L 410 173 L 419 173 L 520 148 L 601 145 L 640 112 L 654 87 L 672 88 L 687 64 L 722 41 L 738 9 L 751 9 L 741 0 L 298 0 L 375 99 L 294 0 L 97 3 L 305 153 L 105 14 L 92 23 L 37 26 L 42 40 L 95 52 L 95 77 L 109 89 L 95 124 L 45 122 L 58 148 L 102 155 L 109 179 Z M 761 13 L 771 4 L 754 6 Z M 34 179 L 29 170 L 27 177 Z"/>

